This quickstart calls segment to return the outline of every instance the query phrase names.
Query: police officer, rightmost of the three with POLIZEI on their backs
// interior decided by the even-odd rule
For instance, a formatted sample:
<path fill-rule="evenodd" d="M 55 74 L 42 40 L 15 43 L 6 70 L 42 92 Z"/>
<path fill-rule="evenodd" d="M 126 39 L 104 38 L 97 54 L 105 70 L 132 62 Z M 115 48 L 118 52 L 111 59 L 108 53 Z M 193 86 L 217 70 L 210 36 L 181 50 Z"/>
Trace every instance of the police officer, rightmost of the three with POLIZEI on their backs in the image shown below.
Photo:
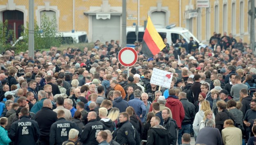
<path fill-rule="evenodd" d="M 80 136 L 80 141 L 84 145 L 98 145 L 96 137 L 98 132 L 105 129 L 105 126 L 96 120 L 96 112 L 89 112 L 87 119 L 88 123 L 84 126 L 84 130 Z"/>

